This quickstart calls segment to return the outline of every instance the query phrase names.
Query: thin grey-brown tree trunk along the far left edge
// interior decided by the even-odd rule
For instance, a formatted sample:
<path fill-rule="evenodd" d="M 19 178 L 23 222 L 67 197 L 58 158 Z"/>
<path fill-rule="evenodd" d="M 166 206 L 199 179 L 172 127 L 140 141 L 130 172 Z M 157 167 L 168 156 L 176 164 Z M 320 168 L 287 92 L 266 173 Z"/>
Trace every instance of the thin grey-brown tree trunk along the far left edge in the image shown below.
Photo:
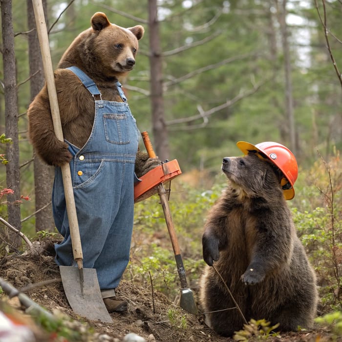
<path fill-rule="evenodd" d="M 5 94 L 5 134 L 12 143 L 6 144 L 6 186 L 14 191 L 7 195 L 8 222 L 21 230 L 20 214 L 20 165 L 19 165 L 19 135 L 18 135 L 18 96 L 16 81 L 16 60 L 14 53 L 14 31 L 12 23 L 12 1 L 0 0 L 1 29 L 3 44 L 3 83 Z M 21 246 L 21 237 L 13 232 L 9 233 L 10 244 L 18 248 Z"/>

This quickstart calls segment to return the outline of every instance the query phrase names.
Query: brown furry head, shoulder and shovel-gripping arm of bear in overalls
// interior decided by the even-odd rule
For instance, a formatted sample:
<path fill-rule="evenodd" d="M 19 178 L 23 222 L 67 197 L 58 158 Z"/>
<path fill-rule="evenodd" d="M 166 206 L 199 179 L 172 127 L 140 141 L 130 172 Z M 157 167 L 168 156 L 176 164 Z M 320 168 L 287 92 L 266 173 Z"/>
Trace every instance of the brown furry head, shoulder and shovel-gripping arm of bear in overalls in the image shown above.
<path fill-rule="evenodd" d="M 85 145 L 93 126 L 95 105 L 79 78 L 65 68 L 74 65 L 83 70 L 95 82 L 103 100 L 122 102 L 115 82 L 133 68 L 138 40 L 143 35 L 143 26 L 123 28 L 97 12 L 91 18 L 91 27 L 64 52 L 54 76 L 67 141 L 79 148 Z M 28 118 L 31 142 L 43 160 L 55 166 L 68 163 L 72 156 L 67 144 L 54 133 L 46 85 L 29 106 Z"/>

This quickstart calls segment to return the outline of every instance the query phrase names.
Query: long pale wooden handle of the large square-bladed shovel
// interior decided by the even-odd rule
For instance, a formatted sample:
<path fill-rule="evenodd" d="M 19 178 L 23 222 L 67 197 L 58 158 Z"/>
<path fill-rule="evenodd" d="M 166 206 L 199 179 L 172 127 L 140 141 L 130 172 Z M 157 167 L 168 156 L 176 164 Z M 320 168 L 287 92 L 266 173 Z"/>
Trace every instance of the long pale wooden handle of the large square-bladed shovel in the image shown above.
<path fill-rule="evenodd" d="M 51 116 L 53 122 L 53 128 L 57 139 L 63 141 L 63 130 L 61 125 L 61 117 L 58 107 L 57 91 L 54 79 L 54 73 L 52 68 L 52 61 L 50 56 L 49 40 L 47 36 L 46 23 L 44 17 L 42 0 L 32 0 L 33 10 L 36 19 L 37 33 L 39 43 L 41 47 L 44 76 L 47 86 L 47 92 L 49 95 L 49 102 L 51 108 Z M 70 236 L 72 243 L 72 252 L 74 259 L 77 261 L 79 268 L 83 268 L 83 254 L 81 246 L 81 237 L 78 227 L 74 192 L 72 189 L 71 173 L 69 164 L 64 164 L 62 167 L 63 186 L 65 193 L 66 211 L 68 214 Z"/>

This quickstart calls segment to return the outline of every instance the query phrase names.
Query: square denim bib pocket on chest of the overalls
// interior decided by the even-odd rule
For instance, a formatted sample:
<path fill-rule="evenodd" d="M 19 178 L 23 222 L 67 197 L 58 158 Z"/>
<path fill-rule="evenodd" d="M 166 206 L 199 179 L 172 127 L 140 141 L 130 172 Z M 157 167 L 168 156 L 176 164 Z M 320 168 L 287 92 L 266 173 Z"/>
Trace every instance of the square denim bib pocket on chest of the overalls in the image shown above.
<path fill-rule="evenodd" d="M 104 113 L 103 120 L 107 142 L 129 144 L 128 113 Z"/>

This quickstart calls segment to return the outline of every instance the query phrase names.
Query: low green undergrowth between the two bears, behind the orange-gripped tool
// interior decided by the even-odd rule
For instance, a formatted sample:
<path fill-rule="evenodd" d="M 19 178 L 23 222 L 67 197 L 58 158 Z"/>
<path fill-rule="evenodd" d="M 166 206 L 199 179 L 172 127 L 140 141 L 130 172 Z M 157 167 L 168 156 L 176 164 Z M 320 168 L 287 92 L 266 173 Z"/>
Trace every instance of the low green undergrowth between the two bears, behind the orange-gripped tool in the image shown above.
<path fill-rule="evenodd" d="M 222 187 L 215 185 L 202 192 L 173 181 L 171 189 L 169 206 L 186 276 L 196 281 L 204 265 L 201 239 L 205 215 Z M 151 274 L 154 290 L 173 299 L 179 294 L 179 276 L 159 196 L 135 204 L 134 212 L 131 256 L 124 278 L 150 284 Z"/>

